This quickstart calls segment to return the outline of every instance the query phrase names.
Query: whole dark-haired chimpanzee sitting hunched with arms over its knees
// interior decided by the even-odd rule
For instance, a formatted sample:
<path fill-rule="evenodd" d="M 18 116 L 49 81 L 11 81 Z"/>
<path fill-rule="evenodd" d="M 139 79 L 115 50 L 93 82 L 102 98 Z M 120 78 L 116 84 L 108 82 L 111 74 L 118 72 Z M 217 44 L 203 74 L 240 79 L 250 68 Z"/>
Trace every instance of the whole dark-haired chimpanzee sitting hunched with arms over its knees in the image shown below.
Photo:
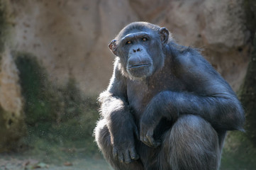
<path fill-rule="evenodd" d="M 245 121 L 221 75 L 152 23 L 130 23 L 108 47 L 116 60 L 94 134 L 111 166 L 218 169 L 226 131 Z"/>

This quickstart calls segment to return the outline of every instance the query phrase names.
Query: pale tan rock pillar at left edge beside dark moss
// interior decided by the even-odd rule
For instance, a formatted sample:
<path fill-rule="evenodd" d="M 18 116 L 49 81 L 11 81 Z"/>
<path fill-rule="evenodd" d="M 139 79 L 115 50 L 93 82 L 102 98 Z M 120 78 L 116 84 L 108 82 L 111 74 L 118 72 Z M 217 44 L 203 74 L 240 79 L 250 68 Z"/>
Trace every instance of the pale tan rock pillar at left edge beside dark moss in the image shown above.
<path fill-rule="evenodd" d="M 9 50 L 1 55 L 0 72 L 0 152 L 17 149 L 25 135 L 23 101 L 18 84 L 18 70 Z"/>

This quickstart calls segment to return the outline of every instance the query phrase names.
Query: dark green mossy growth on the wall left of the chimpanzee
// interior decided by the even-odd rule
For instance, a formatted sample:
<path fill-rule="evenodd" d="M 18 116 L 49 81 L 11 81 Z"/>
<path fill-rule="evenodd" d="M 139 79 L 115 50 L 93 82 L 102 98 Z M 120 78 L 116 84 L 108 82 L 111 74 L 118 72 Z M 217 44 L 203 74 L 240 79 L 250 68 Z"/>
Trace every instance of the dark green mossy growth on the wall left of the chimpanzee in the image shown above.
<path fill-rule="evenodd" d="M 44 162 L 94 154 L 98 150 L 92 137 L 99 118 L 96 98 L 85 98 L 74 79 L 62 87 L 50 83 L 33 55 L 16 52 L 14 56 L 25 99 L 26 153 L 43 156 Z"/>

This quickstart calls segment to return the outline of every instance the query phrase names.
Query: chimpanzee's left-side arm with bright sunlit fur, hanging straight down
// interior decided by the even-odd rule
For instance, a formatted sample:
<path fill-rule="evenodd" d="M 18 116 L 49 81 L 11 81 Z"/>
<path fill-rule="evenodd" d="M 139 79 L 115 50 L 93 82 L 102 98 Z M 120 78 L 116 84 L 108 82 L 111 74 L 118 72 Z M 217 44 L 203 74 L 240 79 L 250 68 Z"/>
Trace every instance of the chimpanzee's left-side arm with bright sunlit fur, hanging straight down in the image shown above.
<path fill-rule="evenodd" d="M 118 60 L 108 89 L 101 93 L 99 101 L 101 116 L 106 119 L 111 134 L 113 157 L 126 163 L 130 163 L 131 159 L 138 159 L 134 145 L 134 135 L 138 136 L 138 130 L 126 102 L 126 81 L 118 69 Z"/>

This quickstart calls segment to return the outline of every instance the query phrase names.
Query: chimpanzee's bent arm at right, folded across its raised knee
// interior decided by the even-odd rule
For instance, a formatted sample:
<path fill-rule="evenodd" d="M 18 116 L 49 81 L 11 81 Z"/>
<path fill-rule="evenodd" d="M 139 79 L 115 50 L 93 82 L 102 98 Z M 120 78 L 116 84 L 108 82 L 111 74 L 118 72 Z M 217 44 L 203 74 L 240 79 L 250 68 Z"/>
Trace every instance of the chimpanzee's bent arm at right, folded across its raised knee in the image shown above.
<path fill-rule="evenodd" d="M 156 146 L 154 127 L 162 117 L 199 115 L 216 130 L 243 130 L 243 108 L 228 83 L 194 50 L 174 56 L 175 74 L 189 91 L 162 91 L 148 104 L 140 125 L 140 140 Z"/>

